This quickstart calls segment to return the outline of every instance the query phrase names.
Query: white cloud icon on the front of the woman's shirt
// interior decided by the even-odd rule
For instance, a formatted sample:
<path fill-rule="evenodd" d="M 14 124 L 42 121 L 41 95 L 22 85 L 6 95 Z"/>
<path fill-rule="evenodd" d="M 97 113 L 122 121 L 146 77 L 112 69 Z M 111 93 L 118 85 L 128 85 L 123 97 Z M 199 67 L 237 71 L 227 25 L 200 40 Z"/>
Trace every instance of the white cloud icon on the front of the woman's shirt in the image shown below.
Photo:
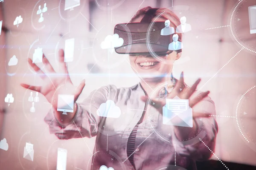
<path fill-rule="evenodd" d="M 97 109 L 97 115 L 102 117 L 118 118 L 121 115 L 121 110 L 116 106 L 113 100 L 107 100 L 102 103 Z"/>

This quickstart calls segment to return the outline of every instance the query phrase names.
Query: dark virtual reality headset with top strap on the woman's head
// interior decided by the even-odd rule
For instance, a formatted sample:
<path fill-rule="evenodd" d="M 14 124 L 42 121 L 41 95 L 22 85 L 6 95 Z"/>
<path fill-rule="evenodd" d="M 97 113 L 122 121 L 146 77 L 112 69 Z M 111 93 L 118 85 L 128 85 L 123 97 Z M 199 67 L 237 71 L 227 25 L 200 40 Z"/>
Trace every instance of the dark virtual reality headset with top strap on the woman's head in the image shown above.
<path fill-rule="evenodd" d="M 115 47 L 118 54 L 151 54 L 157 55 L 168 53 L 168 45 L 172 35 L 161 35 L 165 28 L 165 22 L 154 22 L 151 20 L 156 16 L 158 8 L 150 8 L 140 23 L 121 23 L 114 28 L 114 34 L 123 39 L 121 46 Z"/>

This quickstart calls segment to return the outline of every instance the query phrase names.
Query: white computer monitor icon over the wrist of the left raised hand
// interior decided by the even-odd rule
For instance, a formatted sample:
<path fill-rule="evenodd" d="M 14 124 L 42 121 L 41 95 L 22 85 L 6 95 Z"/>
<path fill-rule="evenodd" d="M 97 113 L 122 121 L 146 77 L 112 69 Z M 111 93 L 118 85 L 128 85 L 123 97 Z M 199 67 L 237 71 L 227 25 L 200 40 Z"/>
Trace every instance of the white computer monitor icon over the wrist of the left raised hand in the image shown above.
<path fill-rule="evenodd" d="M 69 94 L 59 94 L 58 95 L 58 104 L 57 111 L 63 111 L 63 114 L 67 114 L 66 112 L 74 111 L 74 95 Z"/>

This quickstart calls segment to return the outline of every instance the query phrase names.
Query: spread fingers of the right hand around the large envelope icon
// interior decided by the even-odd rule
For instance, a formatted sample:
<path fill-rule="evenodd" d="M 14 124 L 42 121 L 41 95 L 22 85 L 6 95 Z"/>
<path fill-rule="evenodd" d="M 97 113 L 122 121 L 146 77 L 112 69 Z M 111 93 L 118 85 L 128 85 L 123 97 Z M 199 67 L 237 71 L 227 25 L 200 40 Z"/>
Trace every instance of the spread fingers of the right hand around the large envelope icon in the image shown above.
<path fill-rule="evenodd" d="M 209 91 L 206 91 L 206 92 L 202 92 L 201 94 L 196 95 L 193 98 L 191 97 L 192 94 L 195 93 L 196 88 L 200 81 L 201 81 L 201 79 L 197 79 L 195 81 L 195 83 L 190 88 L 185 87 L 184 79 L 183 79 L 183 72 L 181 72 L 180 80 L 176 81 L 175 87 L 169 94 L 167 94 L 166 99 L 173 99 L 175 96 L 178 96 L 180 99 L 189 99 L 189 107 L 193 108 L 198 102 L 200 102 L 202 99 L 204 99 L 209 94 Z M 148 97 L 142 96 L 141 99 L 144 102 L 147 102 Z M 166 99 L 156 99 L 156 98 L 151 99 L 151 105 L 154 108 L 156 108 L 157 111 L 159 111 L 159 113 L 163 114 L 163 106 L 166 105 Z M 193 112 L 193 118 L 206 117 L 206 116 L 209 116 L 209 115 Z"/>

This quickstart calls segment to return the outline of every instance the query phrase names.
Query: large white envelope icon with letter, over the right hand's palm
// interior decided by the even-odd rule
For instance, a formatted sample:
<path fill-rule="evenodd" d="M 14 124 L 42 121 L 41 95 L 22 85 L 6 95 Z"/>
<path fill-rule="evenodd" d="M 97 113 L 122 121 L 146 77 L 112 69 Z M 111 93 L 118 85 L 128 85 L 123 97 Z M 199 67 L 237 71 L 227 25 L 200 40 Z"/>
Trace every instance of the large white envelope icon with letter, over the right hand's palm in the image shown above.
<path fill-rule="evenodd" d="M 183 127 L 193 127 L 192 108 L 188 99 L 166 99 L 163 107 L 163 124 Z"/>

